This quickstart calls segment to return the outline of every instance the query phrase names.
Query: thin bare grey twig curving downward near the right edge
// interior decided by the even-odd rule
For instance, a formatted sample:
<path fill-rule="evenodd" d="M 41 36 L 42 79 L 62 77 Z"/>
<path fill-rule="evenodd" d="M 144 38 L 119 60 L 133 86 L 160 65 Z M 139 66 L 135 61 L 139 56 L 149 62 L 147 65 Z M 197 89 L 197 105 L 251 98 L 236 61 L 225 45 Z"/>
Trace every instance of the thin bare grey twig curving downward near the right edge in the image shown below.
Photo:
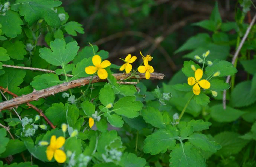
<path fill-rule="evenodd" d="M 253 26 L 255 20 L 256 20 L 256 14 L 253 16 L 253 19 L 252 19 L 252 21 L 251 21 L 249 27 L 247 28 L 247 30 L 246 30 L 246 32 L 245 32 L 245 34 L 244 34 L 244 37 L 243 37 L 243 39 L 241 40 L 241 42 L 240 42 L 240 44 L 239 44 L 239 46 L 238 46 L 238 48 L 237 48 L 237 50 L 236 50 L 236 52 L 235 52 L 234 57 L 232 58 L 232 64 L 234 64 L 235 61 L 236 61 L 236 59 L 238 58 L 238 54 L 239 54 L 239 52 L 240 52 L 242 46 L 244 45 L 244 42 L 245 42 L 245 40 L 246 40 L 248 34 L 250 33 L 251 27 Z M 227 76 L 226 83 L 229 83 L 230 77 L 231 77 L 230 75 Z M 224 91 L 223 91 L 223 98 L 222 98 L 223 109 L 226 109 L 226 94 L 227 94 L 227 91 L 224 90 Z"/>

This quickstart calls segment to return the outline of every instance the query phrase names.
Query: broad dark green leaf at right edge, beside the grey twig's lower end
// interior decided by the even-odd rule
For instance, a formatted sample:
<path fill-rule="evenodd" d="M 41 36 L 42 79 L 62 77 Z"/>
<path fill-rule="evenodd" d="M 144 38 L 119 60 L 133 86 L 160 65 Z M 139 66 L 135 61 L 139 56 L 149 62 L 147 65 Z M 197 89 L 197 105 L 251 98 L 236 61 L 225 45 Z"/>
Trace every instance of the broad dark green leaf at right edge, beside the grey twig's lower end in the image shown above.
<path fill-rule="evenodd" d="M 231 92 L 230 104 L 232 107 L 244 107 L 256 101 L 256 75 L 252 81 L 243 81 L 235 86 Z"/>

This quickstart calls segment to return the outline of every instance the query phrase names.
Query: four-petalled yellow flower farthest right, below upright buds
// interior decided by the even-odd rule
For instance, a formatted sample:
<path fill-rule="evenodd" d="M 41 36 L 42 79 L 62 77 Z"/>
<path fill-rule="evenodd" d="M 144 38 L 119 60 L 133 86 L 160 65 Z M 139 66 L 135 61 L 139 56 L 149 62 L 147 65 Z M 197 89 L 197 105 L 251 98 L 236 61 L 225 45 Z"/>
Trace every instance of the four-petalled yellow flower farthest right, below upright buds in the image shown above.
<path fill-rule="evenodd" d="M 195 71 L 195 78 L 194 77 L 189 77 L 188 79 L 187 79 L 187 83 L 189 84 L 189 85 L 194 85 L 193 86 L 193 92 L 194 92 L 194 94 L 195 95 L 198 95 L 198 94 L 200 94 L 200 87 L 199 87 L 199 85 L 202 87 L 202 88 L 204 88 L 204 89 L 209 89 L 210 88 L 210 82 L 209 81 L 207 81 L 206 79 L 202 79 L 201 81 L 199 81 L 201 78 L 202 78 L 202 76 L 203 76 L 203 70 L 201 70 L 201 69 L 197 69 L 196 71 Z M 198 85 L 199 84 L 199 85 Z"/>

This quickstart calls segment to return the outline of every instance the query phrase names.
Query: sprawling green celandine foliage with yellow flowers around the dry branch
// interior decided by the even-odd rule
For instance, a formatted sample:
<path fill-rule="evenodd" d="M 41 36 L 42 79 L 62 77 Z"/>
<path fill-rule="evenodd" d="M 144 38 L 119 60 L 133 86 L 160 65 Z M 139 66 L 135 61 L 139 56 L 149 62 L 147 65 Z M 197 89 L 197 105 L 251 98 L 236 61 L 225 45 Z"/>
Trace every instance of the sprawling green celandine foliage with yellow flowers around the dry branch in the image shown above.
<path fill-rule="evenodd" d="M 223 109 L 222 92 L 230 88 L 224 77 L 237 70 L 211 48 L 226 45 L 203 47 L 188 40 L 176 52 L 196 49 L 185 55 L 194 61 L 184 61 L 169 83 L 148 91 L 140 80 L 164 76 L 154 72 L 155 58 L 122 55 L 117 66 L 96 45 L 79 51 L 72 36 L 84 33 L 82 25 L 68 21 L 60 5 L 56 0 L 0 5 L 0 167 L 255 164 L 255 117 L 248 108 L 234 107 L 254 109 L 254 94 L 242 96 L 243 103 L 239 94 L 248 86 L 255 91 L 256 80 L 235 86 Z M 215 6 L 210 20 L 197 23 L 214 28 L 213 40 L 202 41 L 226 39 L 219 18 Z M 40 40 L 48 46 L 38 46 Z M 135 67 L 135 61 L 141 64 Z M 245 134 L 237 130 L 240 117 L 250 122 Z"/>

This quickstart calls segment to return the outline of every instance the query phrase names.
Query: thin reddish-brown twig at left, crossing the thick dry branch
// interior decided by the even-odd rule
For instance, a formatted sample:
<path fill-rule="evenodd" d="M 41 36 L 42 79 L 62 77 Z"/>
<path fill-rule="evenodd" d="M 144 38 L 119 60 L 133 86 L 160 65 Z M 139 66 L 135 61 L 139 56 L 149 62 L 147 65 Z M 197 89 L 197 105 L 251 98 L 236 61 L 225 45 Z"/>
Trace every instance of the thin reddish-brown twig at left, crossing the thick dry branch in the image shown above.
<path fill-rule="evenodd" d="M 13 98 L 12 100 L 14 99 L 17 99 L 18 95 L 14 94 L 13 92 L 9 91 L 8 89 L 5 89 L 3 88 L 2 86 L 0 86 L 0 89 L 2 89 L 3 91 L 9 93 L 10 95 L 12 95 L 13 97 L 16 97 L 16 98 Z M 33 93 L 33 92 L 32 92 Z M 30 94 L 32 94 L 30 93 Z M 20 96 L 20 97 L 23 97 L 23 96 Z M 12 100 L 8 100 L 8 101 L 12 101 Z M 4 101 L 2 103 L 5 103 L 5 102 L 8 102 L 8 101 Z M 29 102 L 29 101 L 27 101 Z M 27 102 L 24 102 L 24 103 L 27 103 Z M 19 104 L 22 104 L 22 103 L 19 103 Z M 19 104 L 15 104 L 11 107 L 15 107 L 15 106 L 18 106 Z M 30 103 L 27 103 L 28 106 L 30 106 L 31 108 L 33 108 L 34 110 L 36 110 L 41 116 L 43 116 L 44 120 L 53 128 L 55 129 L 55 126 L 52 124 L 52 122 L 44 115 L 43 111 L 38 109 L 36 106 L 34 106 L 33 104 L 30 104 Z M 1 103 L 0 103 L 0 106 L 1 106 Z M 2 107 L 2 106 L 1 106 Z M 8 107 L 8 108 L 11 108 L 11 107 Z M 8 108 L 5 108 L 5 109 L 8 109 Z M 3 109 L 0 109 L 0 112 L 2 111 Z"/>

